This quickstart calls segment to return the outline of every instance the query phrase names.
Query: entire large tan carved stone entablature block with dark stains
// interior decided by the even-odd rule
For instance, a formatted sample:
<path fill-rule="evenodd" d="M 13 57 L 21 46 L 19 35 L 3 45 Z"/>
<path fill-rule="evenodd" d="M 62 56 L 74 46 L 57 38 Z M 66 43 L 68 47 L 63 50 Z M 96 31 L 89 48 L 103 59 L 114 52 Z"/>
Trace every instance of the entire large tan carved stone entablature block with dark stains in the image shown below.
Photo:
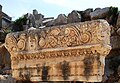
<path fill-rule="evenodd" d="M 110 27 L 105 20 L 45 27 L 10 33 L 5 45 L 16 79 L 100 82 Z"/>

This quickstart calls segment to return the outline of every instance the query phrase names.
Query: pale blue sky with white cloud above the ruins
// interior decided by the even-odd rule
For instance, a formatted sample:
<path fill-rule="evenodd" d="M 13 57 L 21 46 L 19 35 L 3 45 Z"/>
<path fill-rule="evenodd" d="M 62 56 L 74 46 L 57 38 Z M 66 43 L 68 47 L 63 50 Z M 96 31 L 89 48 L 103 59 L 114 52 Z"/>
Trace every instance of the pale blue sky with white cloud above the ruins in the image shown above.
<path fill-rule="evenodd" d="M 0 0 L 3 11 L 13 20 L 37 9 L 45 17 L 57 17 L 58 14 L 70 13 L 72 10 L 115 6 L 120 10 L 120 0 Z"/>

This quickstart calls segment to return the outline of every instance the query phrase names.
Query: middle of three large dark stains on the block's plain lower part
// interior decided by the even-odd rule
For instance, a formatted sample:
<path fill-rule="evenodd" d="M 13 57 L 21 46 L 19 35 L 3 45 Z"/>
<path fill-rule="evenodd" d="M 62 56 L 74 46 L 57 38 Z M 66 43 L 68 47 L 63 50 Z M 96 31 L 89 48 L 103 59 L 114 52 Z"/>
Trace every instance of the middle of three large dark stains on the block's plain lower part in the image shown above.
<path fill-rule="evenodd" d="M 63 63 L 61 63 L 61 70 L 62 70 L 62 74 L 63 74 L 63 79 L 68 80 L 68 77 L 70 75 L 69 62 L 63 61 Z"/>

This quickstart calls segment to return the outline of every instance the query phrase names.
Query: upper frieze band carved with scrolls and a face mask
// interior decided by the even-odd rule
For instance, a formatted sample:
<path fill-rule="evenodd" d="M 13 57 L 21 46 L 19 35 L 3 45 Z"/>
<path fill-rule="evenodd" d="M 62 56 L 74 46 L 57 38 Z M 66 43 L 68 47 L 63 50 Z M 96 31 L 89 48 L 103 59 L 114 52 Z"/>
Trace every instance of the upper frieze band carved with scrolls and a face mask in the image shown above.
<path fill-rule="evenodd" d="M 18 36 L 14 37 L 14 34 Z M 46 29 L 42 30 L 14 34 L 6 38 L 6 46 L 10 51 L 75 47 L 83 44 L 104 42 L 107 44 L 110 36 L 108 26 L 97 21 L 46 27 Z"/>

